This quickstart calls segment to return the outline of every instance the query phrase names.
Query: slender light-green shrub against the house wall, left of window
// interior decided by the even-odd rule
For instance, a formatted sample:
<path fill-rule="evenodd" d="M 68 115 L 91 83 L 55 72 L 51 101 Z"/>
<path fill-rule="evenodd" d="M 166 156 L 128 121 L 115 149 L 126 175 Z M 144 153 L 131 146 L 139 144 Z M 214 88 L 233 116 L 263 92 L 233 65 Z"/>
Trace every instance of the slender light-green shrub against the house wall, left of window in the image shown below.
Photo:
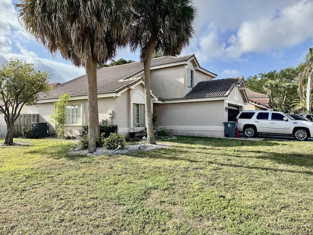
<path fill-rule="evenodd" d="M 65 139 L 66 122 L 67 122 L 67 105 L 70 100 L 68 93 L 60 95 L 59 100 L 55 102 L 52 110 L 51 120 L 57 124 L 56 132 L 58 138 Z"/>

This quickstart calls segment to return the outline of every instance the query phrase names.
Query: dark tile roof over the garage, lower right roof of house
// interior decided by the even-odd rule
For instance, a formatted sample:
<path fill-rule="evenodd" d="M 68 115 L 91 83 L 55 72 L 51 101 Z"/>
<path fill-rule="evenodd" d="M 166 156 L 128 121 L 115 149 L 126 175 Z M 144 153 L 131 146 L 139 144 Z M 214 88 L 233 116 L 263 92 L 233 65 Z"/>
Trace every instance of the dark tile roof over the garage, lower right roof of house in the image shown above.
<path fill-rule="evenodd" d="M 244 77 L 224 78 L 212 81 L 199 82 L 188 94 L 183 97 L 159 99 L 162 101 L 182 100 L 182 99 L 201 99 L 227 97 L 234 89 L 236 84 L 244 81 Z"/>

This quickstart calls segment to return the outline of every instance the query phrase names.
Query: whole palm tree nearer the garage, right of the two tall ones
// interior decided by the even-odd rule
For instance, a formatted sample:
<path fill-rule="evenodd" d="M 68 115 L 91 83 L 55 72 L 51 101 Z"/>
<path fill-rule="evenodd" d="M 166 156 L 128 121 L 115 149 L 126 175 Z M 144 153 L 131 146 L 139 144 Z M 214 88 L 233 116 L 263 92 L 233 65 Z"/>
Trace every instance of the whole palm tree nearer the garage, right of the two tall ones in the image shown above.
<path fill-rule="evenodd" d="M 178 55 L 188 46 L 197 14 L 192 0 L 134 0 L 132 3 L 130 46 L 133 51 L 140 48 L 140 60 L 144 63 L 147 137 L 148 143 L 155 144 L 150 97 L 152 56 L 160 50 L 164 55 Z"/>

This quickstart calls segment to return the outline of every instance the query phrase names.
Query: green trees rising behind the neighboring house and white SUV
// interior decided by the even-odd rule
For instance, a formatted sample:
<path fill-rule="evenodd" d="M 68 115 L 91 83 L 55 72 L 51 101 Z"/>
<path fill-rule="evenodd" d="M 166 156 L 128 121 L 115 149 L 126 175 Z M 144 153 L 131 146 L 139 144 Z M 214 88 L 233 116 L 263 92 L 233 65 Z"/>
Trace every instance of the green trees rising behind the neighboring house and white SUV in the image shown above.
<path fill-rule="evenodd" d="M 246 85 L 251 91 L 267 94 L 273 109 L 287 113 L 291 112 L 292 101 L 298 97 L 298 81 L 297 71 L 290 67 L 250 76 Z"/>

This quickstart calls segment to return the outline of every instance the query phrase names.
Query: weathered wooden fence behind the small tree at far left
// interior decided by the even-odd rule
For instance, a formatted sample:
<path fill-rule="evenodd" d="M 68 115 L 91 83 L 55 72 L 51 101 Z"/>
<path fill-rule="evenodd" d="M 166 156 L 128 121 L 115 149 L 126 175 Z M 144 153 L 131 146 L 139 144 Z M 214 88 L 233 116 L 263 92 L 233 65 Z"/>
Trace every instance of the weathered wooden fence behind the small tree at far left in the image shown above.
<path fill-rule="evenodd" d="M 39 121 L 39 114 L 20 114 L 14 124 L 13 137 L 22 136 L 22 127 L 26 126 L 31 128 L 31 123 Z M 4 138 L 6 135 L 6 123 L 4 120 L 4 114 L 0 114 L 0 138 Z"/>

